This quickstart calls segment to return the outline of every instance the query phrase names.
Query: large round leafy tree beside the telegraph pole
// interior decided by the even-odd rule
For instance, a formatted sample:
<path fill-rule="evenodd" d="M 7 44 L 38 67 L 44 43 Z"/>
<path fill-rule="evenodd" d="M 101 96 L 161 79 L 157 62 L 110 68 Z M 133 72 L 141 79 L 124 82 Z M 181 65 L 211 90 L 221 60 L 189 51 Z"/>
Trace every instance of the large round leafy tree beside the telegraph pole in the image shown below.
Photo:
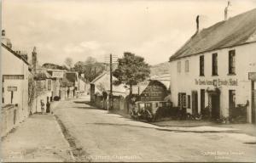
<path fill-rule="evenodd" d="M 149 65 L 144 62 L 143 57 L 129 52 L 125 52 L 124 57 L 118 59 L 118 68 L 113 71 L 113 76 L 118 79 L 118 84 L 125 83 L 130 86 L 130 95 L 132 94 L 132 85 L 145 81 L 149 74 Z"/>

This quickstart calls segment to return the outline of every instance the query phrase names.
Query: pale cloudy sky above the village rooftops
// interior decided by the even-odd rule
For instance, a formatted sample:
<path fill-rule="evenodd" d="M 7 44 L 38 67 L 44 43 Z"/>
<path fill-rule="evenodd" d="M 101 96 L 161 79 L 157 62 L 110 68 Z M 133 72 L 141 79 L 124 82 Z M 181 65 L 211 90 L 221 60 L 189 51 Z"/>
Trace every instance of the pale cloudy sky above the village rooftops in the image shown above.
<path fill-rule="evenodd" d="M 224 20 L 228 0 L 3 0 L 2 28 L 14 49 L 39 64 L 62 65 L 109 53 L 142 56 L 149 65 L 167 62 L 195 31 Z M 229 16 L 256 8 L 256 0 L 230 0 Z"/>

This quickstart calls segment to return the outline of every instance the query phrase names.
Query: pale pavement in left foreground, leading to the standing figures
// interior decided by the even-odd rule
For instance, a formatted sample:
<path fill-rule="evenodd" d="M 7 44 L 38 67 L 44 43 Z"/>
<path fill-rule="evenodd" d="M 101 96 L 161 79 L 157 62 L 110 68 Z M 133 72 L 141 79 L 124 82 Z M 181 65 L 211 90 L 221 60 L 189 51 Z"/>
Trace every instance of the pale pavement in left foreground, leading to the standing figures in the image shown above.
<path fill-rule="evenodd" d="M 73 161 L 54 115 L 32 115 L 3 138 L 3 162 Z"/>

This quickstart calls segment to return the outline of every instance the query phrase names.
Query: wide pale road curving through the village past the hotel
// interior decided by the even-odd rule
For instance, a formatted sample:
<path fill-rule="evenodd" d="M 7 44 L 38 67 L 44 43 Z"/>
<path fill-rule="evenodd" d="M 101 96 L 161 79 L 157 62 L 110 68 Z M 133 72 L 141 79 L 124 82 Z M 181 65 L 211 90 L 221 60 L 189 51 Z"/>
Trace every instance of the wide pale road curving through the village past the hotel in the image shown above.
<path fill-rule="evenodd" d="M 177 132 L 63 101 L 55 115 L 90 161 L 255 161 L 252 137 L 230 132 Z"/>

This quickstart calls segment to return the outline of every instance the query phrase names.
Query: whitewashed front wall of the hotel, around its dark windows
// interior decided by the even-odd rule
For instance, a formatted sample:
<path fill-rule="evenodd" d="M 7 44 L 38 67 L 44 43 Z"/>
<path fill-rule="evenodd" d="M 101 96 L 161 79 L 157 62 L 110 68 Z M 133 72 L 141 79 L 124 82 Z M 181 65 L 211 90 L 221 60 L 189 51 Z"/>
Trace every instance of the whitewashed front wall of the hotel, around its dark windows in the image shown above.
<path fill-rule="evenodd" d="M 236 50 L 236 76 L 229 76 L 229 51 Z M 177 59 L 170 63 L 171 65 L 171 100 L 177 106 L 177 93 L 186 93 L 191 96 L 191 91 L 198 93 L 198 109 L 201 111 L 201 89 L 214 89 L 212 85 L 197 85 L 195 80 L 212 81 L 212 80 L 234 80 L 238 82 L 237 86 L 218 86 L 220 90 L 220 108 L 221 115 L 229 116 L 229 90 L 236 90 L 236 104 L 246 104 L 247 100 L 251 101 L 251 82 L 248 80 L 248 72 L 256 70 L 256 43 L 237 46 L 235 48 L 224 48 L 208 53 Z M 212 76 L 212 53 L 218 53 L 218 76 Z M 200 55 L 204 55 L 205 76 L 200 74 Z M 189 60 L 189 72 L 185 72 L 185 60 Z M 177 72 L 177 62 L 181 61 L 181 73 Z M 191 100 L 192 102 L 192 96 Z M 251 104 L 251 103 L 249 103 Z M 190 104 L 191 105 L 191 104 Z M 208 105 L 207 93 L 205 94 L 205 106 Z M 251 121 L 251 106 L 247 107 L 247 121 Z M 187 112 L 191 113 L 191 109 Z"/>

